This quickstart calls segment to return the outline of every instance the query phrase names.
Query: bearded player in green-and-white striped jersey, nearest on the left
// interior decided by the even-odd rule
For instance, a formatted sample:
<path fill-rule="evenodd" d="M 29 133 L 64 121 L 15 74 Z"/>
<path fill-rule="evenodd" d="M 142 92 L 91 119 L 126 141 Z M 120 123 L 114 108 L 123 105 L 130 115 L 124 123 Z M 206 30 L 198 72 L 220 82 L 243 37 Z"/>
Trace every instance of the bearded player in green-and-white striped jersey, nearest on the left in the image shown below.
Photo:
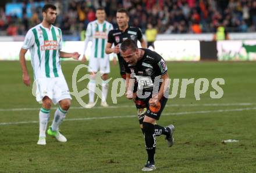
<path fill-rule="evenodd" d="M 31 28 L 26 35 L 22 49 L 20 50 L 20 64 L 23 72 L 23 82 L 30 86 L 30 76 L 27 71 L 25 54 L 27 50 L 31 53 L 31 64 L 34 71 L 34 80 L 37 86 L 36 100 L 42 102 L 39 112 L 39 139 L 38 145 L 46 145 L 45 131 L 51 111 L 51 103 L 59 103 L 55 111 L 54 120 L 47 133 L 54 136 L 59 142 L 67 139 L 59 132 L 59 125 L 65 119 L 70 107 L 71 97 L 63 76 L 60 57 L 74 58 L 78 60 L 80 54 L 77 52 L 66 53 L 62 49 L 61 29 L 52 25 L 57 13 L 56 6 L 46 4 L 42 8 L 42 23 Z"/>

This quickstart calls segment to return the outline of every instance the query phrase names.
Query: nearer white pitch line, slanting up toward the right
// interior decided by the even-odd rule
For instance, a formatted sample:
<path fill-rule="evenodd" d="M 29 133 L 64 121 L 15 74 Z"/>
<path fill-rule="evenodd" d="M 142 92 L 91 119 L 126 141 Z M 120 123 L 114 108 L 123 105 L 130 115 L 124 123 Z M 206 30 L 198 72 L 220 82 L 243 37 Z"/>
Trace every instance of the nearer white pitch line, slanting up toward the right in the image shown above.
<path fill-rule="evenodd" d="M 238 109 L 218 109 L 218 110 L 210 110 L 210 111 L 191 111 L 191 112 L 173 112 L 173 113 L 162 113 L 163 116 L 170 116 L 170 115 L 188 115 L 188 114 L 201 114 L 201 113 L 216 113 L 216 112 L 237 112 L 237 111 L 250 111 L 256 110 L 256 107 L 253 108 L 238 108 Z M 99 119 L 119 119 L 119 118 L 126 118 L 126 117 L 137 117 L 136 115 L 123 115 L 123 116 L 103 116 L 103 117 L 86 117 L 86 118 L 75 118 L 75 119 L 65 119 L 65 121 L 81 121 L 81 120 L 99 120 Z M 31 124 L 31 123 L 38 123 L 38 121 L 31 121 L 31 122 L 7 122 L 7 123 L 0 123 L 0 126 L 3 125 L 15 125 L 15 124 Z"/>

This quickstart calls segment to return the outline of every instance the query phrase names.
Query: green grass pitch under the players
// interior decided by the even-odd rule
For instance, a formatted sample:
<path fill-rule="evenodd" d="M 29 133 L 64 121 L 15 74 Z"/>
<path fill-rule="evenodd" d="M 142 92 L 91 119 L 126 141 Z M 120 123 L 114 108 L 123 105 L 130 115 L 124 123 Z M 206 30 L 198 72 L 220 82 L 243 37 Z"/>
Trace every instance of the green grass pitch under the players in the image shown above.
<path fill-rule="evenodd" d="M 79 64 L 62 62 L 70 91 Z M 28 67 L 33 76 L 30 63 Z M 256 171 L 255 67 L 255 62 L 168 62 L 171 79 L 207 78 L 210 86 L 200 101 L 194 84 L 187 87 L 186 98 L 179 98 L 179 86 L 177 97 L 168 100 L 158 124 L 175 124 L 175 145 L 168 148 L 163 137 L 157 138 L 155 172 Z M 86 69 L 79 75 L 84 73 Z M 118 66 L 111 65 L 110 77 L 119 78 Z M 209 97 L 214 78 L 225 79 L 221 99 Z M 0 81 L 0 172 L 141 172 L 147 159 L 144 137 L 134 104 L 124 96 L 118 104 L 108 97 L 110 108 L 98 103 L 93 109 L 81 109 L 73 97 L 61 125 L 67 142 L 47 136 L 47 145 L 38 146 L 41 105 L 31 87 L 24 86 L 19 62 L 1 61 Z M 80 82 L 79 90 L 85 86 L 86 81 Z M 50 121 L 54 112 L 52 108 Z M 225 139 L 239 142 L 222 143 Z"/>

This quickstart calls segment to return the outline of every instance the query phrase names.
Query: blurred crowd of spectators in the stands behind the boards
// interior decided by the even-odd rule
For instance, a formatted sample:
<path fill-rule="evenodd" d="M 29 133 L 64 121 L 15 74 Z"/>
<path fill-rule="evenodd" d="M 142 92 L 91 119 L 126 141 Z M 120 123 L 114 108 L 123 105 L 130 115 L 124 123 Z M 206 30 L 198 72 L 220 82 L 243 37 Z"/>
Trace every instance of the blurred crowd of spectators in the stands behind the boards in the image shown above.
<path fill-rule="evenodd" d="M 5 6 L 0 7 L 0 35 L 26 35 L 26 32 L 42 20 L 42 7 L 35 2 L 51 1 L 10 1 L 22 3 L 22 16 L 6 14 Z M 31 5 L 31 17 L 27 17 L 27 4 Z M 55 25 L 65 35 L 80 35 L 87 24 L 95 20 L 95 9 L 105 8 L 107 19 L 114 27 L 116 11 L 125 8 L 130 13 L 130 25 L 140 27 L 143 32 L 147 24 L 157 28 L 159 34 L 215 32 L 223 25 L 228 32 L 256 31 L 255 0 L 83 0 L 54 1 L 58 8 Z"/>

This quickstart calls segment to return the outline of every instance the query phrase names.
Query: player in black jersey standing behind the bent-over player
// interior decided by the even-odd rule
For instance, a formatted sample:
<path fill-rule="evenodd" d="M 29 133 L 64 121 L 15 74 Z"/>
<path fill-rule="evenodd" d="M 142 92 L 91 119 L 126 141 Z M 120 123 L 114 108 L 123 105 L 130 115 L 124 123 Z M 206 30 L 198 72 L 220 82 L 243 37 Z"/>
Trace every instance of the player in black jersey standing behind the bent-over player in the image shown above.
<path fill-rule="evenodd" d="M 125 72 L 125 61 L 120 56 L 120 44 L 126 39 L 132 39 L 134 42 L 140 41 L 141 47 L 146 48 L 147 43 L 143 39 L 143 35 L 141 33 L 140 28 L 130 27 L 129 26 L 129 14 L 125 9 L 119 9 L 116 13 L 116 21 L 118 23 L 118 28 L 115 30 L 111 30 L 108 33 L 108 43 L 106 43 L 106 54 L 116 53 L 118 54 L 118 61 L 120 67 L 120 74 L 123 79 L 126 79 Z M 115 47 L 112 48 L 112 45 Z M 116 60 L 114 58 L 114 63 Z"/>

